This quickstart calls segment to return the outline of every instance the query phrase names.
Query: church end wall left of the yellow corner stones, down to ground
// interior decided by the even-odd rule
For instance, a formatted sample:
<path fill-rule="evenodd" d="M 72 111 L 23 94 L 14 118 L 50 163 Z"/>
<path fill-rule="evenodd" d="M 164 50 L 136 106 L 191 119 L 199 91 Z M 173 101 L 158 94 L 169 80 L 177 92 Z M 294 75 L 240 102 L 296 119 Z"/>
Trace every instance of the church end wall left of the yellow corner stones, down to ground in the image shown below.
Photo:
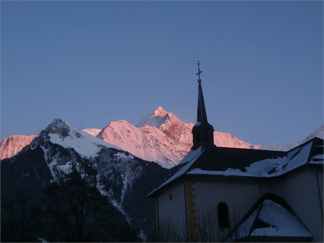
<path fill-rule="evenodd" d="M 165 238 L 169 239 L 170 236 L 165 235 L 167 230 L 185 234 L 185 229 L 183 229 L 186 225 L 184 185 L 180 182 L 170 184 L 158 193 L 157 200 L 160 241 Z"/>

